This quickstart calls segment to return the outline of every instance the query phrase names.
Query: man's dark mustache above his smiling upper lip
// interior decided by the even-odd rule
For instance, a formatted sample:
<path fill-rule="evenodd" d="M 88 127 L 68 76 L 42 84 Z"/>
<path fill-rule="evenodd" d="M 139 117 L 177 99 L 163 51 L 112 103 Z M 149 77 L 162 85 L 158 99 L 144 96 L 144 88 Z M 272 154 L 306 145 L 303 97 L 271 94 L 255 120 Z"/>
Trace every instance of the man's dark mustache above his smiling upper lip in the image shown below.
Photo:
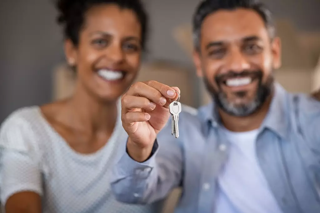
<path fill-rule="evenodd" d="M 252 79 L 262 79 L 262 76 L 263 76 L 263 72 L 261 70 L 255 70 L 255 71 L 244 70 L 242 72 L 229 71 L 227 73 L 217 75 L 215 77 L 215 81 L 217 82 L 217 84 L 220 84 L 229 78 L 251 77 Z"/>

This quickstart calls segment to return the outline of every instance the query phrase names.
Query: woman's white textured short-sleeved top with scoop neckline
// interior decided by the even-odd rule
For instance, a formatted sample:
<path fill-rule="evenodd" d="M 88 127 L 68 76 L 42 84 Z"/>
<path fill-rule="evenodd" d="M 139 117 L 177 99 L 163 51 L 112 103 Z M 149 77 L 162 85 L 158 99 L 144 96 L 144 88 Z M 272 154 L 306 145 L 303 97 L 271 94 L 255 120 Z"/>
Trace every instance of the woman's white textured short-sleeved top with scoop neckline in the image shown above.
<path fill-rule="evenodd" d="M 118 149 L 127 134 L 118 119 L 106 145 L 93 154 L 75 152 L 42 116 L 39 107 L 12 113 L 0 130 L 0 199 L 21 191 L 41 195 L 44 213 L 154 213 L 154 205 L 117 202 L 109 185 Z M 121 151 L 120 153 L 123 153 Z"/>

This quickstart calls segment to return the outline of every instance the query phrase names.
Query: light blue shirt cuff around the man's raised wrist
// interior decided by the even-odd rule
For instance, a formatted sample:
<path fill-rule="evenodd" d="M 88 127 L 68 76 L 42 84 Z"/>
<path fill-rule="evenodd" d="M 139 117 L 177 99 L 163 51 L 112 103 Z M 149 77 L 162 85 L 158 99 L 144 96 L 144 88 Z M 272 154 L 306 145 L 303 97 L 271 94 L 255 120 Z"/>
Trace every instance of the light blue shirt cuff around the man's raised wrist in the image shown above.
<path fill-rule="evenodd" d="M 149 158 L 142 163 L 133 160 L 128 155 L 128 152 L 125 152 L 116 165 L 118 177 L 126 178 L 134 176 L 141 179 L 148 178 L 156 164 L 155 156 L 158 152 L 158 147 L 158 142 L 155 140 Z"/>

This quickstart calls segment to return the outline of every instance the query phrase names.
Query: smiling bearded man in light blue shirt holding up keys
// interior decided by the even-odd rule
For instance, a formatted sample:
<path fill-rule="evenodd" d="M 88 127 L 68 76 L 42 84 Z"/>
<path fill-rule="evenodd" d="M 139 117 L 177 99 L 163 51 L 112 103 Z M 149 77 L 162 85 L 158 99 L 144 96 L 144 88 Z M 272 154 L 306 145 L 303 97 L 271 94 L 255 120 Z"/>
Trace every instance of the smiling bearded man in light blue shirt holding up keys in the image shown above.
<path fill-rule="evenodd" d="M 251 0 L 206 0 L 193 27 L 213 102 L 180 113 L 176 139 L 166 122 L 180 90 L 155 81 L 128 90 L 117 199 L 149 203 L 182 186 L 179 213 L 320 212 L 320 103 L 274 83 L 281 47 L 270 12 Z"/>

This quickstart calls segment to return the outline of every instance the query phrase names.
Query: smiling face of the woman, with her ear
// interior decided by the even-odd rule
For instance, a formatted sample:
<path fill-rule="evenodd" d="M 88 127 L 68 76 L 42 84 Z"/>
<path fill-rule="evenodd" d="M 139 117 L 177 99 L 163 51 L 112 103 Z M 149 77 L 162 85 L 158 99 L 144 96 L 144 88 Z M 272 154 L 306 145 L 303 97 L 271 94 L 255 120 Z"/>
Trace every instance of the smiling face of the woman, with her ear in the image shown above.
<path fill-rule="evenodd" d="M 115 4 L 92 7 L 85 16 L 77 47 L 66 41 L 78 86 L 101 101 L 115 101 L 140 68 L 141 25 L 134 11 Z"/>

